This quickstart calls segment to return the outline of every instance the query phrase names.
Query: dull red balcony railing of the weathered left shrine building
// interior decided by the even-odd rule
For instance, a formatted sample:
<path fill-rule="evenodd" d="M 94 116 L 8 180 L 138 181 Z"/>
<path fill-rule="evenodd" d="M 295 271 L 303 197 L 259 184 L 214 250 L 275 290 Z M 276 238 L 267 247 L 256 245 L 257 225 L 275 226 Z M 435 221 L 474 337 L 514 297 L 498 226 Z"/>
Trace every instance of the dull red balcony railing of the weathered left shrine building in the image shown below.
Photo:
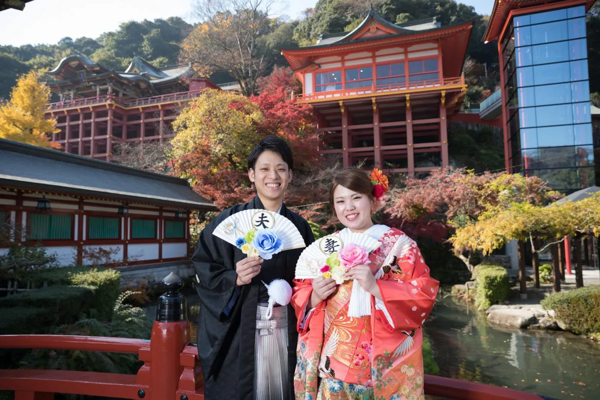
<path fill-rule="evenodd" d="M 65 110 L 106 103 L 116 103 L 125 108 L 152 106 L 154 104 L 169 103 L 173 101 L 188 101 L 195 97 L 198 97 L 201 93 L 202 90 L 177 92 L 152 97 L 136 98 L 133 100 L 124 100 L 122 97 L 118 97 L 114 93 L 109 93 L 100 97 L 76 98 L 74 100 L 65 100 L 59 101 L 58 103 L 50 103 L 48 104 L 48 111 Z"/>

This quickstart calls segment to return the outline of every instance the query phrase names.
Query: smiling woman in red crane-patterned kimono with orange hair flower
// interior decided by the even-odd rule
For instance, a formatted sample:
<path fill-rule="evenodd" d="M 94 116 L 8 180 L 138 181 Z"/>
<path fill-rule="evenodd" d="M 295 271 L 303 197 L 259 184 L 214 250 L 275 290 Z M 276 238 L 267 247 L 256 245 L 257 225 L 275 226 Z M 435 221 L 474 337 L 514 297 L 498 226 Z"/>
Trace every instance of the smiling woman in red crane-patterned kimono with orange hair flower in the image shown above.
<path fill-rule="evenodd" d="M 388 179 L 379 170 L 367 177 L 344 169 L 331 182 L 329 202 L 345 229 L 368 234 L 381 246 L 370 254 L 369 265 L 349 269 L 350 279 L 341 285 L 323 277 L 294 281 L 296 399 L 424 398 L 421 325 L 439 282 L 412 239 L 373 223 L 387 190 Z M 371 294 L 368 315 L 349 316 L 353 285 Z"/>

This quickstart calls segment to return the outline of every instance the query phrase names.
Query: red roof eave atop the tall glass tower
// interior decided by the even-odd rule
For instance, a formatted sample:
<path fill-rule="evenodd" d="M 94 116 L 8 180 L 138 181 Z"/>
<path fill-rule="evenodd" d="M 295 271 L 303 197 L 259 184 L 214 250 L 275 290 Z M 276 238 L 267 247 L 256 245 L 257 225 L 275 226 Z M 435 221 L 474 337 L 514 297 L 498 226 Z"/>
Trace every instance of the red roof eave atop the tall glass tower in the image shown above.
<path fill-rule="evenodd" d="M 485 28 L 485 33 L 484 37 L 482 38 L 482 41 L 487 43 L 488 41 L 498 40 L 510 12 L 517 8 L 534 7 L 536 5 L 552 7 L 553 5 L 556 5 L 558 3 L 565 3 L 565 7 L 568 7 L 569 5 L 572 6 L 577 4 L 585 4 L 586 11 L 588 11 L 590 8 L 592 8 L 592 5 L 594 5 L 595 2 L 596 0 L 494 0 L 494 8 L 491 11 L 490 21 L 488 22 L 487 28 Z"/>

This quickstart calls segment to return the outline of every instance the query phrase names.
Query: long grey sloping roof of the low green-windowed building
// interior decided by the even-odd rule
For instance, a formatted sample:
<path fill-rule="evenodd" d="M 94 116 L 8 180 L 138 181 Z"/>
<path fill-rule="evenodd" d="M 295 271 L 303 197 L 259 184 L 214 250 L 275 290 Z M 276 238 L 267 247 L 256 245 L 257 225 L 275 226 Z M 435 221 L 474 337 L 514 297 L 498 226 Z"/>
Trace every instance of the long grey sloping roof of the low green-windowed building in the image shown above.
<path fill-rule="evenodd" d="M 0 159 L 0 184 L 11 187 L 215 209 L 186 179 L 5 139 L 0 139 Z"/>

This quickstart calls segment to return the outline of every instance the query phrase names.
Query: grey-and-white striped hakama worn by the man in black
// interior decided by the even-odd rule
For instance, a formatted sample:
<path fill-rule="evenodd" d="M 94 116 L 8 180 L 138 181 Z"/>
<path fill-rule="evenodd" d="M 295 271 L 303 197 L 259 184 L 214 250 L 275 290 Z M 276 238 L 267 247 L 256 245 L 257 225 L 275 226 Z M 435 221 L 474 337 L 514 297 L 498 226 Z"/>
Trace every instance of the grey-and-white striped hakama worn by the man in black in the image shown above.
<path fill-rule="evenodd" d="M 254 343 L 254 399 L 287 398 L 287 307 L 274 307 L 266 319 L 266 303 L 256 309 L 256 341 Z"/>

